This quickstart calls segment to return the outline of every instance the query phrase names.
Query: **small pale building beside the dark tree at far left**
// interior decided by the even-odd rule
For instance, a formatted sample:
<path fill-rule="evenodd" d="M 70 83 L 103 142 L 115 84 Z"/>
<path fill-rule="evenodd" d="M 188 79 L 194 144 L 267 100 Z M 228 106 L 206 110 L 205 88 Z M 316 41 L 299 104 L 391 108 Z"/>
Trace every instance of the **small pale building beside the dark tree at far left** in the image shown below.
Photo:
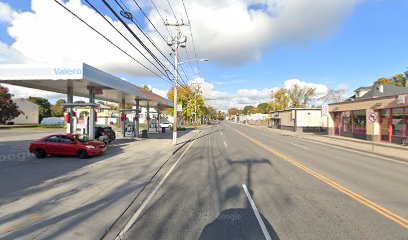
<path fill-rule="evenodd" d="M 7 121 L 7 124 L 38 124 L 40 106 L 24 98 L 13 99 L 13 102 L 17 104 L 22 113 L 18 117 Z"/>

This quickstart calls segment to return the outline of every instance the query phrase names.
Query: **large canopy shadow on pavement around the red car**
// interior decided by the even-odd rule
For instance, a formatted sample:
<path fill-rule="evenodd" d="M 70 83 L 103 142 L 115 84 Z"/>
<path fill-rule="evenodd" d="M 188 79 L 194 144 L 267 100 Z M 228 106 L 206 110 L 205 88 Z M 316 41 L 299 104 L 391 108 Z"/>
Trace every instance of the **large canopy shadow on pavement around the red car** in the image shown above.
<path fill-rule="evenodd" d="M 16 201 L 24 196 L 46 191 L 51 186 L 42 183 L 58 178 L 55 186 L 69 179 L 64 176 L 87 165 L 100 161 L 111 161 L 114 156 L 123 153 L 130 141 L 119 139 L 109 145 L 108 150 L 99 156 L 80 159 L 69 156 L 48 156 L 37 159 L 28 152 L 32 141 L 11 141 L 0 144 L 0 204 Z M 134 142 L 132 140 L 131 142 Z M 18 146 L 14 148 L 13 146 Z"/>

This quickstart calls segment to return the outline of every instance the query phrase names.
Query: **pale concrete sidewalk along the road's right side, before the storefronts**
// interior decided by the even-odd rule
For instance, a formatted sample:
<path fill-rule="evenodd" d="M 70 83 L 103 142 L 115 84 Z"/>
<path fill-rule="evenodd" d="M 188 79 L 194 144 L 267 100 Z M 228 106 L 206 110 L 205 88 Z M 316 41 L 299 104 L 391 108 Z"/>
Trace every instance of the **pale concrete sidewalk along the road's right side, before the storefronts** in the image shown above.
<path fill-rule="evenodd" d="M 393 159 L 398 159 L 404 162 L 408 162 L 408 146 L 401 146 L 391 143 L 382 143 L 365 141 L 355 138 L 338 137 L 338 136 L 328 136 L 328 135 L 318 135 L 313 133 L 297 133 L 292 131 L 285 131 L 275 128 L 268 128 L 266 126 L 254 126 L 247 125 L 254 128 L 265 129 L 275 134 L 282 134 L 285 136 L 291 136 L 296 138 L 301 138 L 309 141 L 330 144 L 337 147 L 343 147 L 351 150 L 366 152 L 375 154 L 378 156 L 389 157 Z M 374 151 L 373 151 L 374 145 Z"/>

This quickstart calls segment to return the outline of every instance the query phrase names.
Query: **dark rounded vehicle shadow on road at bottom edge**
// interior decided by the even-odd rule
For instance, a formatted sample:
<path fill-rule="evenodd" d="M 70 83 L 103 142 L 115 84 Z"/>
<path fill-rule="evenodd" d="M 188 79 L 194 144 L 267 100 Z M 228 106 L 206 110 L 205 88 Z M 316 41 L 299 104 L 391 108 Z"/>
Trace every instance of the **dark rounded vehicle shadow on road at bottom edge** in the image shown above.
<path fill-rule="evenodd" d="M 271 239 L 279 237 L 269 221 L 262 216 Z M 207 224 L 199 240 L 258 240 L 265 239 L 262 229 L 252 209 L 232 208 L 222 211 L 214 221 Z"/>

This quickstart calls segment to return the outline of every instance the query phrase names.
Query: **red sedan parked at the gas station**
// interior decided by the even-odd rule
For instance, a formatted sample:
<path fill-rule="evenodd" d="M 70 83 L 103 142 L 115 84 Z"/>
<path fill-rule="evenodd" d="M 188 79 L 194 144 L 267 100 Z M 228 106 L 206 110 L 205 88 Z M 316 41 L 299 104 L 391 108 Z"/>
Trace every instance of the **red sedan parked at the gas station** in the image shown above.
<path fill-rule="evenodd" d="M 103 142 L 89 141 L 87 136 L 79 134 L 51 135 L 30 144 L 30 153 L 37 158 L 47 155 L 87 158 L 102 154 L 106 150 L 107 146 Z"/>

